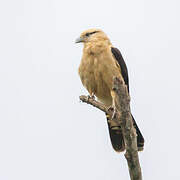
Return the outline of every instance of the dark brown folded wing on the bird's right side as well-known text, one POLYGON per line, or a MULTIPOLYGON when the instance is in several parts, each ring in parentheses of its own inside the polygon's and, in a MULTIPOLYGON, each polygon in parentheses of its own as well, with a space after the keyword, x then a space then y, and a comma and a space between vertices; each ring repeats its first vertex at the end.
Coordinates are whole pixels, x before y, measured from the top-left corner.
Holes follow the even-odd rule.
POLYGON ((129 92, 129 78, 128 78, 128 70, 127 70, 126 63, 119 49, 111 47, 111 52, 113 53, 113 56, 115 57, 116 61, 121 67, 121 74, 122 74, 125 84, 127 85, 128 92, 129 92))

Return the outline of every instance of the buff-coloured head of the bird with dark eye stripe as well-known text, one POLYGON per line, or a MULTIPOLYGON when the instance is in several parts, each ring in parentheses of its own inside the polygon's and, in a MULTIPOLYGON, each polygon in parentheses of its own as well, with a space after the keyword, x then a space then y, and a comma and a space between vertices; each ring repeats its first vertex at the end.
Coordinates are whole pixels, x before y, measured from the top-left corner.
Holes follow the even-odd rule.
POLYGON ((98 41, 109 41, 107 35, 100 29, 88 29, 81 33, 80 37, 76 39, 75 43, 96 43, 98 41))

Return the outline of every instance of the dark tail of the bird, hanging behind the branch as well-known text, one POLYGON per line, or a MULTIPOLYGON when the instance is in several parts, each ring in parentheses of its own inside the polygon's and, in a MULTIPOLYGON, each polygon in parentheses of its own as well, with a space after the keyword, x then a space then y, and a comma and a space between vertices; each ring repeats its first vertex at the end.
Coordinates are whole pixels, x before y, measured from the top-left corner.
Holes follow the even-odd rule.
MULTIPOLYGON (((132 115, 131 115, 132 116, 132 115)), ((122 130, 120 126, 112 126, 109 123, 109 117, 107 116, 107 122, 108 122, 108 128, 109 128, 109 135, 110 135, 110 139, 111 139, 111 144, 114 148, 115 151, 117 152, 122 152, 125 150, 125 144, 124 144, 124 138, 123 138, 123 134, 122 134, 122 130)), ((132 116, 132 120, 133 120, 133 125, 136 129, 136 134, 137 134, 137 147, 138 147, 138 151, 142 151, 143 147, 144 147, 144 138, 136 124, 136 121, 134 119, 134 117, 132 116)))

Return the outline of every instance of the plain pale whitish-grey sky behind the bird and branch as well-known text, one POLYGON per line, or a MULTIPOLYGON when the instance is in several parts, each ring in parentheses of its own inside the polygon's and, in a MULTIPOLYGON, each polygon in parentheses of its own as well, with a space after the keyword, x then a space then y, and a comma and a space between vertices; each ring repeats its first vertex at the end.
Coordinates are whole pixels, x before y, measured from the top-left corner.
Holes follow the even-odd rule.
POLYGON ((146 180, 180 179, 178 0, 0 1, 0 180, 128 180, 105 116, 79 102, 80 33, 126 60, 146 180))

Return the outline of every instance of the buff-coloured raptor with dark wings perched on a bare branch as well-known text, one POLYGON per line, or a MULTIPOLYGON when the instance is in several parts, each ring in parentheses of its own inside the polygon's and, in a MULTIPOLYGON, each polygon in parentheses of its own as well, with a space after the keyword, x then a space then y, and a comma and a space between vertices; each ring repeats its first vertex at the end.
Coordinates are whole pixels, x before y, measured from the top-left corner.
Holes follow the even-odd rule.
MULTIPOLYGON (((78 73, 83 86, 89 96, 97 98, 106 107, 113 106, 113 78, 123 79, 129 93, 129 77, 126 63, 121 52, 115 48, 108 36, 97 28, 85 30, 75 43, 83 43, 83 53, 78 68, 78 73)), ((107 124, 110 140, 116 152, 125 150, 125 142, 121 127, 107 114, 107 124)), ((132 114, 131 114, 132 116, 132 114)), ((132 121, 137 134, 138 151, 144 148, 144 137, 132 116, 132 121)))

